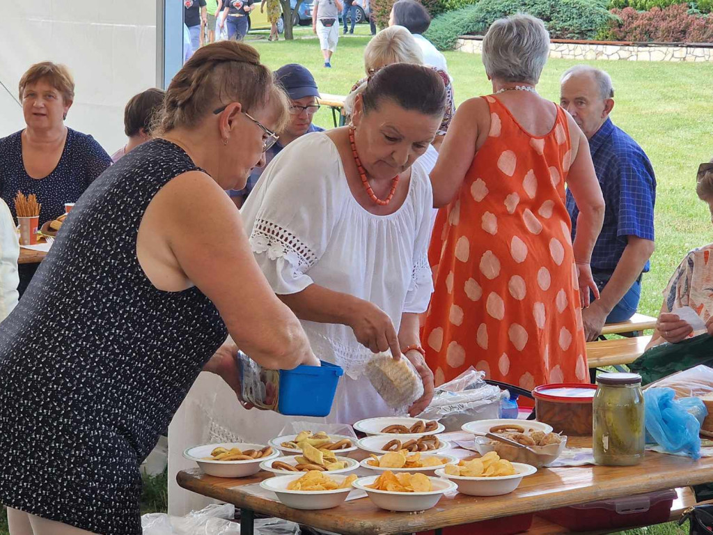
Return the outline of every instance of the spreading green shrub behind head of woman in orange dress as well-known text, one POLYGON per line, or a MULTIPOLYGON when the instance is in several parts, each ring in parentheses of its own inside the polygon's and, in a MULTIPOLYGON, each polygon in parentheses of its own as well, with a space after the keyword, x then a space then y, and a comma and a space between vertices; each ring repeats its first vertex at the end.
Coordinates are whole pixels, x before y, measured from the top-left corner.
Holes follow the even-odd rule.
POLYGON ((614 18, 602 1, 480 0, 436 17, 426 37, 441 50, 453 49, 459 35, 485 34, 493 21, 516 13, 542 19, 553 39, 595 39, 614 18))

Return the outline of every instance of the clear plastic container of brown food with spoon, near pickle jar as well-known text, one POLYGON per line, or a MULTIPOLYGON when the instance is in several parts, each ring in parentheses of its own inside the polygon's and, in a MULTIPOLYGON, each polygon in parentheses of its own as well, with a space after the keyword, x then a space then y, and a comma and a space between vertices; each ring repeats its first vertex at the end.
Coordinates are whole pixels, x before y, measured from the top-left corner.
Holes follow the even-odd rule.
POLYGON ((481 455, 496 452, 501 459, 531 464, 535 468, 542 468, 560 457, 567 445, 567 437, 558 433, 507 431, 497 434, 529 449, 518 448, 486 437, 476 437, 476 449, 481 455))

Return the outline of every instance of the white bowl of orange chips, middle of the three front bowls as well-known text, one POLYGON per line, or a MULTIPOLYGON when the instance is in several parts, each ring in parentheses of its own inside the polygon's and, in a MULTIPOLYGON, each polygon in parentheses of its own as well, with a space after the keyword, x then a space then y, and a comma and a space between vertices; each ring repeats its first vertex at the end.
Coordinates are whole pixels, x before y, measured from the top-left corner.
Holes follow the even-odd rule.
POLYGON ((360 477, 356 489, 366 491, 374 505, 387 511, 425 511, 438 503, 443 494, 454 491, 452 481, 425 474, 386 471, 379 476, 360 477))

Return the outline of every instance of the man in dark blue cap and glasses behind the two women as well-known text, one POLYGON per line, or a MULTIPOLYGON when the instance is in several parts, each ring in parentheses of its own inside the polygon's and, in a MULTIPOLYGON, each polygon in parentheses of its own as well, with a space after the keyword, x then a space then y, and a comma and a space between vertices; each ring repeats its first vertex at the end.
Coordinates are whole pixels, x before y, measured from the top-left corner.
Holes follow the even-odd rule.
MULTIPOLYGON (((324 128, 314 126, 312 118, 319 110, 317 98, 317 82, 314 81, 314 76, 307 68, 297 63, 289 63, 275 71, 277 82, 282 85, 284 91, 290 99, 289 107, 289 124, 284 128, 284 131, 279 132, 279 140, 275 145, 267 149, 265 153, 265 167, 275 158, 279 151, 282 151, 289 143, 295 139, 304 136, 310 132, 323 132, 324 128)), ((247 195, 250 195, 252 188, 255 188, 257 179, 262 175, 262 170, 265 167, 256 167, 247 178, 245 188, 242 190, 230 190, 228 195, 232 198, 238 208, 245 203, 247 195)))

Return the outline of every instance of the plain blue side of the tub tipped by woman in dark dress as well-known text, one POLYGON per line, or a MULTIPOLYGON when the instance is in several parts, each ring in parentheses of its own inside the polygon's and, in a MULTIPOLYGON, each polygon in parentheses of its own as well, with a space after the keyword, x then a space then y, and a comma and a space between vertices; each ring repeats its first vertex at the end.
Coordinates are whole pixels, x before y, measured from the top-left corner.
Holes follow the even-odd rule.
POLYGON ((322 366, 298 366, 279 370, 277 412, 285 416, 327 416, 332 411, 334 393, 342 367, 320 360, 322 366))

